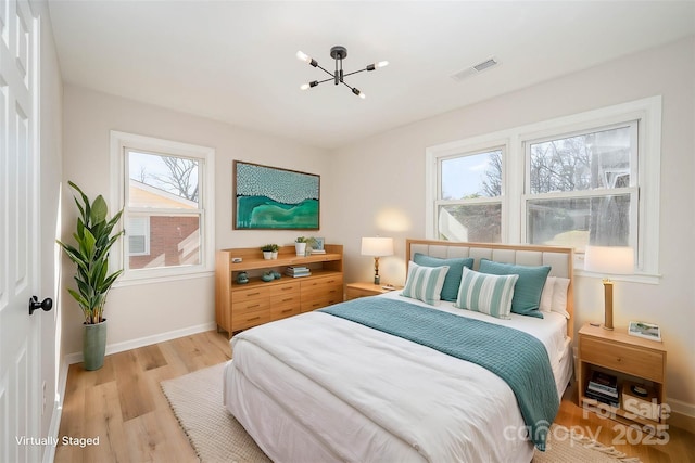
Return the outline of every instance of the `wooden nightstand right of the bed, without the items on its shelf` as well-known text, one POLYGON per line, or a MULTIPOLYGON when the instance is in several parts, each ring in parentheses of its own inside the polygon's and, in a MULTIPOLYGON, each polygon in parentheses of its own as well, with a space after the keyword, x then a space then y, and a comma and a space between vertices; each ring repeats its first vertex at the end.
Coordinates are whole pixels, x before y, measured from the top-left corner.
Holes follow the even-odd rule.
POLYGON ((662 406, 666 403, 666 349, 661 343, 630 336, 624 326, 608 331, 587 323, 579 331, 577 378, 580 406, 623 424, 648 426, 657 434, 668 428, 665 407, 660 408, 658 420, 649 420, 624 410, 622 394, 618 408, 586 397, 586 386, 594 370, 618 376, 618 390, 622 389, 624 381, 654 387, 658 404, 662 406))

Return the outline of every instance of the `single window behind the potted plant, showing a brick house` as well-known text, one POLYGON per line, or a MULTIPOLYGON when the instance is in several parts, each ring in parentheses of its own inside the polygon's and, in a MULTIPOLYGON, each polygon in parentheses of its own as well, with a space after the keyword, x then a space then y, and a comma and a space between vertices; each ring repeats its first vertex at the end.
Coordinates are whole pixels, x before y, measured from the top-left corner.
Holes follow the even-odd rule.
POLYGON ((112 132, 122 280, 213 270, 214 151, 112 132))

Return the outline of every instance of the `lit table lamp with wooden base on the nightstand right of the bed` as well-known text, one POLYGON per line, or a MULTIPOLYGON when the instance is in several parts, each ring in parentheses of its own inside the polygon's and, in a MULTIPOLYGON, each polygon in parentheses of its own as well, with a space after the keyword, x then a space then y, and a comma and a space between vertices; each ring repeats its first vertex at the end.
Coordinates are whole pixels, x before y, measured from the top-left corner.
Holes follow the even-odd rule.
MULTIPOLYGON (((586 246, 584 270, 604 274, 634 271, 634 252, 628 246, 586 246)), ((604 278, 605 319, 603 327, 612 330, 612 281, 604 278)))

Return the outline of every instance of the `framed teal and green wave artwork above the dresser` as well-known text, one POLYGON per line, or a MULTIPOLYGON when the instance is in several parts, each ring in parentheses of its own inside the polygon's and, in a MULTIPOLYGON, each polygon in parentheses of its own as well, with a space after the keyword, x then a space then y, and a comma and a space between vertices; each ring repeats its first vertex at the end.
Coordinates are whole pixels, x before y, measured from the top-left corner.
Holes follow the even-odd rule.
POLYGON ((320 176, 233 162, 235 230, 318 230, 320 176))

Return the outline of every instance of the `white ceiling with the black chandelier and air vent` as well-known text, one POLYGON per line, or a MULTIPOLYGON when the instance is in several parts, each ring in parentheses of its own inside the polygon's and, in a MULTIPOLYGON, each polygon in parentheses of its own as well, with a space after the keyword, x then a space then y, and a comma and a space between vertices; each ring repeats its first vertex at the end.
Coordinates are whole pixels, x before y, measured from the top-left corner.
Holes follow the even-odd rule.
POLYGON ((49 0, 63 79, 331 150, 695 34, 695 1, 49 0), (389 66, 344 86, 329 76, 389 66), (491 56, 498 65, 455 81, 491 56))

